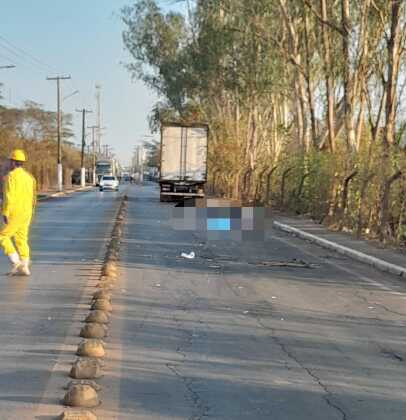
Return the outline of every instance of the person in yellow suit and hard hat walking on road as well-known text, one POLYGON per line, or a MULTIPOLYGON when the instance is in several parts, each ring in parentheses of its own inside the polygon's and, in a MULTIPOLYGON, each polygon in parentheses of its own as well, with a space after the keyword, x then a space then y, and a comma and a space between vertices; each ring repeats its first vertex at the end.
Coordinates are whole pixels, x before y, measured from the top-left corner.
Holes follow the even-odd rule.
POLYGON ((11 170, 4 181, 4 226, 0 230, 0 247, 13 264, 10 274, 29 276, 28 235, 37 194, 34 177, 23 168, 26 160, 24 151, 20 149, 14 150, 10 156, 11 170))

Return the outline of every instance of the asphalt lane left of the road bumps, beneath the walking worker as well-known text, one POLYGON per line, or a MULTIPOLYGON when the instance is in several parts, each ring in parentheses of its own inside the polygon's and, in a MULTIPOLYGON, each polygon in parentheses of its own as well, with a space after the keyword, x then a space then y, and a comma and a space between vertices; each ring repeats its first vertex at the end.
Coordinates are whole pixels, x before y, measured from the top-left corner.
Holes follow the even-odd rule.
POLYGON ((64 391, 50 380, 67 383, 62 363, 74 360, 78 342, 71 328, 84 310, 87 281, 100 269, 116 197, 92 191, 41 203, 30 278, 5 275, 8 261, 0 257, 0 419, 41 418, 41 407, 59 405, 64 391))

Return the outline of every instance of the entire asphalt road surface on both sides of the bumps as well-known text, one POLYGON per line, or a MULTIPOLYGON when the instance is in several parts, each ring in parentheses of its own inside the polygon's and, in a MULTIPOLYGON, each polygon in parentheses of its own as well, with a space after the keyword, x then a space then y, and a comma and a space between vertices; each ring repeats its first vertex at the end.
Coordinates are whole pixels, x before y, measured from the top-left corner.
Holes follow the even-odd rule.
MULTIPOLYGON (((155 186, 127 194, 99 419, 406 418, 405 283, 270 228, 209 240, 155 186)), ((113 200, 44 204, 32 278, 3 278, 0 419, 62 411, 113 200)))

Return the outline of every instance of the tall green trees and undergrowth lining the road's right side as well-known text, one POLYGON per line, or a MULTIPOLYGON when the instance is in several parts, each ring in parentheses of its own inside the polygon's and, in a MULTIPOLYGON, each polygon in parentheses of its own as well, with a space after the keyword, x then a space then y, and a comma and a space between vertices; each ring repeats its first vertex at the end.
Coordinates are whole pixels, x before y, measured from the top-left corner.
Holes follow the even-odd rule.
MULTIPOLYGON (((154 131, 162 120, 209 124, 209 182, 217 194, 401 241, 400 111, 393 144, 384 140, 391 129, 386 98, 395 3, 350 0, 344 22, 344 3, 327 1, 326 24, 321 2, 196 0, 186 18, 165 13, 155 0, 138 0, 122 10, 128 69, 160 96, 150 117, 154 131), (334 145, 326 140, 329 81, 334 145)), ((403 69, 405 3, 399 7, 403 69)), ((393 89, 396 110, 404 105, 403 79, 393 89)))

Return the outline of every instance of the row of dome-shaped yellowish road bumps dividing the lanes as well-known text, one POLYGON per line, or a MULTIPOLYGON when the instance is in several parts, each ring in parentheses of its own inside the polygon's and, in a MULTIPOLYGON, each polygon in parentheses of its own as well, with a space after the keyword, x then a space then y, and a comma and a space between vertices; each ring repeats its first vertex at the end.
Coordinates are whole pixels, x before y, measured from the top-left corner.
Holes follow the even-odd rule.
POLYGON ((106 356, 103 339, 107 336, 110 315, 113 310, 112 293, 118 278, 118 260, 122 225, 127 214, 127 196, 121 200, 117 212, 111 239, 107 245, 106 256, 97 290, 92 296, 90 311, 80 331, 83 337, 69 372, 71 378, 67 384, 67 392, 63 404, 70 409, 65 410, 62 420, 96 420, 97 417, 88 409, 98 407, 101 402, 98 396, 100 386, 97 379, 102 374, 106 356))

